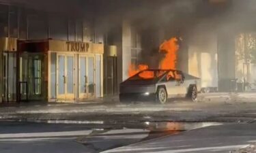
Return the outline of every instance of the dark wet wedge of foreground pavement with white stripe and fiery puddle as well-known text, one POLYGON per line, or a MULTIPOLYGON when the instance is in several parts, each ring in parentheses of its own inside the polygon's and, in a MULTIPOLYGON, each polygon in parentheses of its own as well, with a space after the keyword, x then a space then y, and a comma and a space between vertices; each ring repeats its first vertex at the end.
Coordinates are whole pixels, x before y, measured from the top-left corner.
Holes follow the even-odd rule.
MULTIPOLYGON (((133 143, 156 139, 167 135, 174 135, 191 129, 204 126, 217 125, 216 122, 81 122, 73 124, 59 123, 32 123, 32 122, 0 122, 0 141, 2 146, 11 146, 19 143, 19 146, 12 149, 16 152, 18 148, 31 148, 37 150, 38 144, 41 148, 51 146, 51 150, 56 150, 53 144, 62 143, 63 152, 65 147, 77 148, 80 150, 94 150, 101 152, 133 143)), ((58 150, 60 148, 57 148, 58 150)), ((0 146, 1 152, 1 146, 0 146)))

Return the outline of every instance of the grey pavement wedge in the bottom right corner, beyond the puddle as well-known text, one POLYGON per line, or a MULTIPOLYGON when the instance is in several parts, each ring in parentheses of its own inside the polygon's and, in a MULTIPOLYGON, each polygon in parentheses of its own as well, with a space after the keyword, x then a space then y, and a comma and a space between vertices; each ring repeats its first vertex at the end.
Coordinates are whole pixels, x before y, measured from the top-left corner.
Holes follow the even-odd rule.
POLYGON ((160 137, 141 143, 107 150, 104 153, 181 153, 230 152, 256 141, 256 123, 224 124, 160 137))

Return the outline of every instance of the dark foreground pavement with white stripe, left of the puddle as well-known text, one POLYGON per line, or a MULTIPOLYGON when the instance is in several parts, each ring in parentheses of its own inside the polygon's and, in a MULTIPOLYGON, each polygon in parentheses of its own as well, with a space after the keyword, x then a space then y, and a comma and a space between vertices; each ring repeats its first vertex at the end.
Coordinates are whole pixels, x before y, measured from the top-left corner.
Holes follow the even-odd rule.
POLYGON ((81 153, 93 152, 74 139, 91 131, 82 125, 0 122, 0 152, 81 153))

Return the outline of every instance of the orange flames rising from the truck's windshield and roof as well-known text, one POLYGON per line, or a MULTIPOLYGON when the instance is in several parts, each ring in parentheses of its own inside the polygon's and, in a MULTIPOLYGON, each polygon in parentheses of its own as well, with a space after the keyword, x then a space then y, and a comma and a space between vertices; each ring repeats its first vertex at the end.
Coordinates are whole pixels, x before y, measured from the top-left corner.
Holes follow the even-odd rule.
MULTIPOLYGON (((177 50, 179 50, 179 45, 177 44, 177 38, 172 37, 171 39, 164 41, 160 47, 159 52, 164 53, 165 57, 159 63, 159 69, 175 69, 176 67, 176 59, 177 59, 177 50)), ((128 75, 132 76, 138 73, 139 71, 143 71, 145 69, 149 69, 148 65, 130 65, 128 69, 128 75)), ((141 78, 153 78, 154 73, 152 71, 145 71, 145 73, 139 74, 141 78)))

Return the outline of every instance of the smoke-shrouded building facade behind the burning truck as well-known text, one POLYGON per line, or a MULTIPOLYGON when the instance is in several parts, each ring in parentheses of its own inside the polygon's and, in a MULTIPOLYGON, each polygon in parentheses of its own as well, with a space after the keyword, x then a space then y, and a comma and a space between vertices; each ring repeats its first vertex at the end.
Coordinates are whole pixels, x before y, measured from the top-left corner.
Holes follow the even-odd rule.
POLYGON ((39 1, 0 4, 1 101, 83 101, 117 95, 130 65, 158 68, 164 56, 159 46, 171 37, 180 46, 176 68, 201 78, 202 87, 229 92, 231 80, 254 81, 255 60, 237 58, 252 50, 241 47, 247 39, 236 43, 246 27, 233 26, 236 20, 216 24, 222 18, 212 18, 232 3, 201 1, 187 14, 186 5, 168 0, 76 2, 66 0, 66 7, 59 9, 51 1, 47 3, 52 9, 44 9, 47 4, 39 1))

